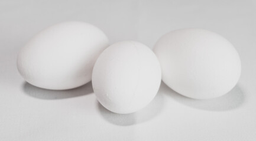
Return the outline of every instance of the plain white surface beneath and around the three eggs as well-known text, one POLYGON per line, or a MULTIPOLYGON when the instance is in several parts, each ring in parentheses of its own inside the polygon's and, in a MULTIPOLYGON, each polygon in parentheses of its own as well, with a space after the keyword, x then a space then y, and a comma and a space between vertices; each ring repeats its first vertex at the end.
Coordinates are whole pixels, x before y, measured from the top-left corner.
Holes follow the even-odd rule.
POLYGON ((248 1, 0 1, 1 140, 255 140, 256 2, 248 1), (41 29, 78 20, 98 26, 110 42, 154 43, 179 28, 203 28, 230 41, 242 74, 230 93, 212 100, 178 95, 162 83, 144 110, 116 115, 102 108, 91 84, 38 89, 18 74, 18 50, 41 29))

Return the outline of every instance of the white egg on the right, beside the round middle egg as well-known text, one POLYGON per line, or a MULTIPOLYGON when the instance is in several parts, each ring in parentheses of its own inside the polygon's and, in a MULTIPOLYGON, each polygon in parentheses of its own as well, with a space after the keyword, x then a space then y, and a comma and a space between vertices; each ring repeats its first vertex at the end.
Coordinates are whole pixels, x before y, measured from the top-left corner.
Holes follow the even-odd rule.
POLYGON ((162 79, 171 89, 194 99, 222 96, 234 88, 241 61, 225 38, 204 29, 179 29, 161 37, 154 47, 162 79))

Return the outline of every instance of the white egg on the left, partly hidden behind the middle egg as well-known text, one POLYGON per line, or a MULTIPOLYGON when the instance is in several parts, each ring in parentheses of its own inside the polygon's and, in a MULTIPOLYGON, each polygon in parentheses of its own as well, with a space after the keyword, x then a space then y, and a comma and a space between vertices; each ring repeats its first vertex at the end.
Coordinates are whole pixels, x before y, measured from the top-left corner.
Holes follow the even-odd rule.
POLYGON ((63 22, 34 36, 18 53, 17 68, 31 85, 72 89, 92 79, 93 65, 108 46, 101 29, 85 22, 63 22))

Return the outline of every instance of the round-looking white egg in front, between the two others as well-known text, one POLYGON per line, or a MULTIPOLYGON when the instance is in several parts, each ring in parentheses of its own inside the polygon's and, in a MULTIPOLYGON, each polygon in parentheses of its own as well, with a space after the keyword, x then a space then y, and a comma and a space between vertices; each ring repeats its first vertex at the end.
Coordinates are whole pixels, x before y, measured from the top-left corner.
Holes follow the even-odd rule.
POLYGON ((114 43, 101 53, 92 73, 98 101, 115 113, 132 113, 153 100, 161 83, 154 52, 142 43, 114 43))

